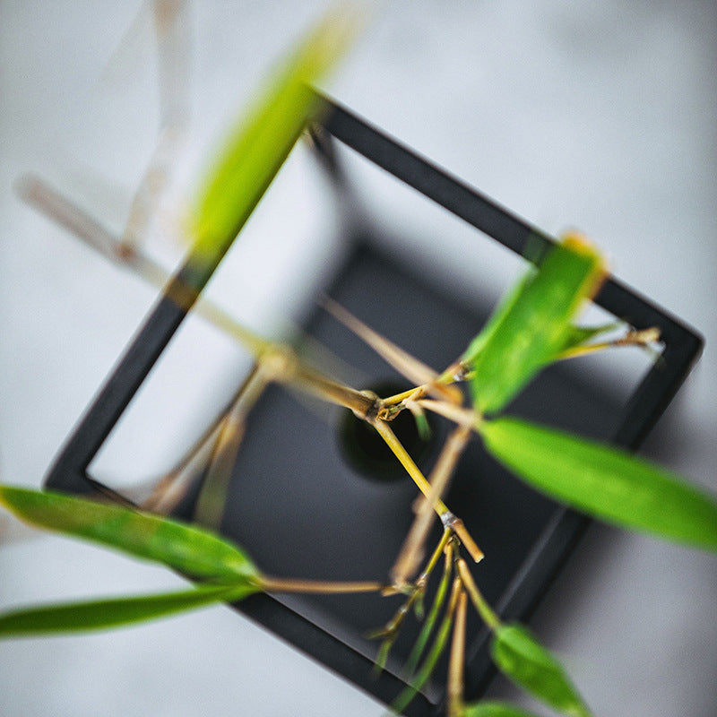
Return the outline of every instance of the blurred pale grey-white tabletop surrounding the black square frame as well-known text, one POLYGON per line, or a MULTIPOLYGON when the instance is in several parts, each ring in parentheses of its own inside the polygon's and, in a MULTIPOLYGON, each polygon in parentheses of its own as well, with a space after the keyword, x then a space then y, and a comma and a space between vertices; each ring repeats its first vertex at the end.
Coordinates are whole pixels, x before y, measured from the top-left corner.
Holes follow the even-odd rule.
MULTIPOLYGON (((297 5, 193 8, 199 129, 187 166, 324 6, 297 5)), ((40 485, 151 305, 150 289, 12 191, 15 177, 39 171, 121 226, 157 122, 148 17, 139 3, 0 1, 7 483, 40 485)), ((716 29, 715 6, 696 0, 385 3, 326 84, 541 228, 582 229, 618 276, 704 333, 704 356, 644 453, 713 490, 716 29)), ((160 569, 57 537, 0 544, 0 608, 177 584, 160 569)), ((600 526, 532 625, 564 656, 597 715, 711 717, 715 606, 714 557, 600 526)), ((8 717, 200 711, 358 716, 382 708, 221 607, 103 635, 0 643, 8 717)))

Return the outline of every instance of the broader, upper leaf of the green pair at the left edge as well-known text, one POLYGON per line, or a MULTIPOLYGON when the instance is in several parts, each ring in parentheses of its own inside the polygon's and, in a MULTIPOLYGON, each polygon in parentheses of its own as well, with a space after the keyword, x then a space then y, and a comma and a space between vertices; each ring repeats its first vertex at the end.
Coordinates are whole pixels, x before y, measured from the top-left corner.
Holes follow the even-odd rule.
POLYGON ((0 485, 0 505, 26 523, 108 545, 194 578, 261 580, 246 553, 209 531, 120 505, 0 485))

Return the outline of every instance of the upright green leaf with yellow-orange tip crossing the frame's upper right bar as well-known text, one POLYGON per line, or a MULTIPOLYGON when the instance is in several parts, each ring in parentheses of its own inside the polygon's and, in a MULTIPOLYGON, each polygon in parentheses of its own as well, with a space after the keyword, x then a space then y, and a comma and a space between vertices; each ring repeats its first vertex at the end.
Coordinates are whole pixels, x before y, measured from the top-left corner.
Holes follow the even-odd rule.
POLYGON ((529 272, 462 357, 473 371, 473 402, 481 412, 502 409, 557 356, 574 331, 575 313, 603 277, 600 255, 575 236, 529 272))

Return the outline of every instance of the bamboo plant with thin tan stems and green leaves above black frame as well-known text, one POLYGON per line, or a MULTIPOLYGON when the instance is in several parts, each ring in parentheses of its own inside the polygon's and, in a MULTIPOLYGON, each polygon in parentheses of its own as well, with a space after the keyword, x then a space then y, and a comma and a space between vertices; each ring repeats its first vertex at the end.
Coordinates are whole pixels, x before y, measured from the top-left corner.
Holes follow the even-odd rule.
MULTIPOLYGON (((207 266, 226 252, 299 135, 320 116, 321 105, 307 83, 320 79, 347 45, 351 33, 344 21, 333 16, 317 25, 220 151, 188 229, 193 243, 189 266, 195 272, 206 272, 207 266)), ((105 255, 151 281, 167 281, 160 267, 143 255, 141 245, 133 242, 128 246, 91 220, 76 221, 72 205, 39 180, 27 181, 23 191, 31 202, 79 231, 105 255)), ((398 368, 413 386, 389 396, 335 381, 299 358, 289 345, 246 330, 200 299, 196 310, 241 342, 255 360, 255 368, 236 400, 211 431, 215 450, 210 473, 219 476, 212 484, 219 488, 208 498, 210 513, 220 505, 221 477, 226 478, 227 464, 239 450, 241 427, 250 418, 255 401, 266 385, 289 384, 339 404, 366 421, 422 494, 415 521, 391 573, 375 582, 355 583, 333 582, 331 575, 314 582, 264 574, 240 546, 212 531, 157 513, 162 507, 171 507, 171 500, 162 505, 162 499, 171 494, 178 471, 168 477, 150 503, 140 507, 2 486, 0 503, 27 523, 160 563, 185 575, 191 584, 180 592, 13 610, 0 615, 0 637, 123 626, 211 603, 236 602, 255 592, 374 592, 376 600, 402 596, 393 618, 376 630, 381 641, 376 666, 381 669, 404 620, 433 580, 437 583, 433 602, 405 666, 410 687, 397 695, 392 705, 395 713, 402 713, 410 704, 447 651, 448 717, 530 717, 511 704, 464 702, 466 616, 474 609, 491 632, 490 652, 497 669, 537 701, 560 713, 591 715, 557 658, 525 626, 504 622, 483 598, 479 568, 469 566, 479 562, 482 551, 460 516, 445 505, 443 494, 465 445, 471 436, 479 436, 497 462, 565 505, 628 530, 646 531, 695 549, 717 552, 717 501, 713 496, 615 447, 505 412, 514 396, 555 361, 611 345, 644 347, 658 338, 654 331, 637 332, 627 327, 618 340, 607 340, 604 337, 614 333, 614 325, 585 328, 576 323, 606 273, 600 252, 590 242, 576 234, 566 236, 526 273, 462 355, 441 372, 424 366, 327 300, 326 308, 398 368), (428 476, 393 432, 392 421, 404 410, 413 414, 421 429, 426 427, 427 412, 454 424, 428 476), (442 536, 427 550, 429 529, 436 516, 443 525, 442 536), (422 562, 427 552, 428 560, 422 562)), ((196 298, 177 277, 165 290, 186 305, 196 298)))

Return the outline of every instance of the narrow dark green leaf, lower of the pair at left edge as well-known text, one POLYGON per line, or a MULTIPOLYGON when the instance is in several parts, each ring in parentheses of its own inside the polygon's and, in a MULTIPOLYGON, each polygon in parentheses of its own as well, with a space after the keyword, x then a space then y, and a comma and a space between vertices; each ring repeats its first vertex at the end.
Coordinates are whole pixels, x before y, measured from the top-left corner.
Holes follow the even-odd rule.
POLYGON ((118 627, 200 608, 220 600, 235 602, 258 590, 258 586, 248 582, 230 586, 200 585, 194 590, 182 592, 21 609, 0 615, 0 638, 118 627))

